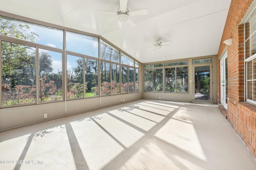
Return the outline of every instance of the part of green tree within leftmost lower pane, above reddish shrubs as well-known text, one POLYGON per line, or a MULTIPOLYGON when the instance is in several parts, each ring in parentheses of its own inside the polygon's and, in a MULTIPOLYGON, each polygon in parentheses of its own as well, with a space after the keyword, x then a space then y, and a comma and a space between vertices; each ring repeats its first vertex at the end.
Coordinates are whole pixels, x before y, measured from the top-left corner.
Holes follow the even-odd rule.
POLYGON ((34 48, 2 41, 2 84, 35 84, 35 58, 34 48))

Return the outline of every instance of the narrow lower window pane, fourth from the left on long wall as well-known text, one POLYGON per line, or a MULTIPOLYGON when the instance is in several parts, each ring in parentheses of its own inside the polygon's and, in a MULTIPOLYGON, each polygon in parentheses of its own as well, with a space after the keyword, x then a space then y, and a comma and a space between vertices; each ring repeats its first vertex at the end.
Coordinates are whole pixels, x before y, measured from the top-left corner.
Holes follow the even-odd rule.
POLYGON ((98 96, 98 60, 85 59, 85 97, 98 96))

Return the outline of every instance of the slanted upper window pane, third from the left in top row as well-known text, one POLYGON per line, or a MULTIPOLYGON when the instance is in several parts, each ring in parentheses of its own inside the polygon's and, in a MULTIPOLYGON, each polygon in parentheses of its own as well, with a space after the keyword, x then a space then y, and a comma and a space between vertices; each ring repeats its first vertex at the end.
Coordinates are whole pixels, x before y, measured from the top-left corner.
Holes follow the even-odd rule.
POLYGON ((102 39, 100 40, 100 58, 120 63, 120 52, 102 39))

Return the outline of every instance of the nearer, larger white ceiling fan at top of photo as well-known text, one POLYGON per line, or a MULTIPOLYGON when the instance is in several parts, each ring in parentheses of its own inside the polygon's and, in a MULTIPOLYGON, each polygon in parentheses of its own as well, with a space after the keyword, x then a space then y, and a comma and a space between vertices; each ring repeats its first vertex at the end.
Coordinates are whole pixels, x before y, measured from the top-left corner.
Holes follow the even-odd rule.
POLYGON ((109 14, 109 15, 117 15, 116 20, 114 20, 110 25, 115 25, 118 21, 120 21, 122 24, 125 22, 128 23, 131 27, 135 27, 137 24, 130 19, 130 16, 139 16, 139 15, 147 15, 148 10, 137 10, 137 11, 129 11, 127 8, 127 2, 128 0, 120 0, 120 7, 116 10, 116 12, 107 12, 107 11, 100 11, 99 13, 102 14, 109 14))

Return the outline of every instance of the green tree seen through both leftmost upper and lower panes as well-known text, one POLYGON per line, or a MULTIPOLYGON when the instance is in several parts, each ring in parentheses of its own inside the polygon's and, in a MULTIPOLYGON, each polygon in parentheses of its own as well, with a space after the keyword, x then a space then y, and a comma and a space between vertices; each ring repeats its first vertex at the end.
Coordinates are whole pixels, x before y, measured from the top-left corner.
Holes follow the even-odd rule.
MULTIPOLYGON (((39 36, 27 30, 27 24, 17 24, 0 18, 0 34, 34 42, 39 36)), ((35 49, 26 45, 2 41, 2 84, 32 85, 35 77, 35 49)))

